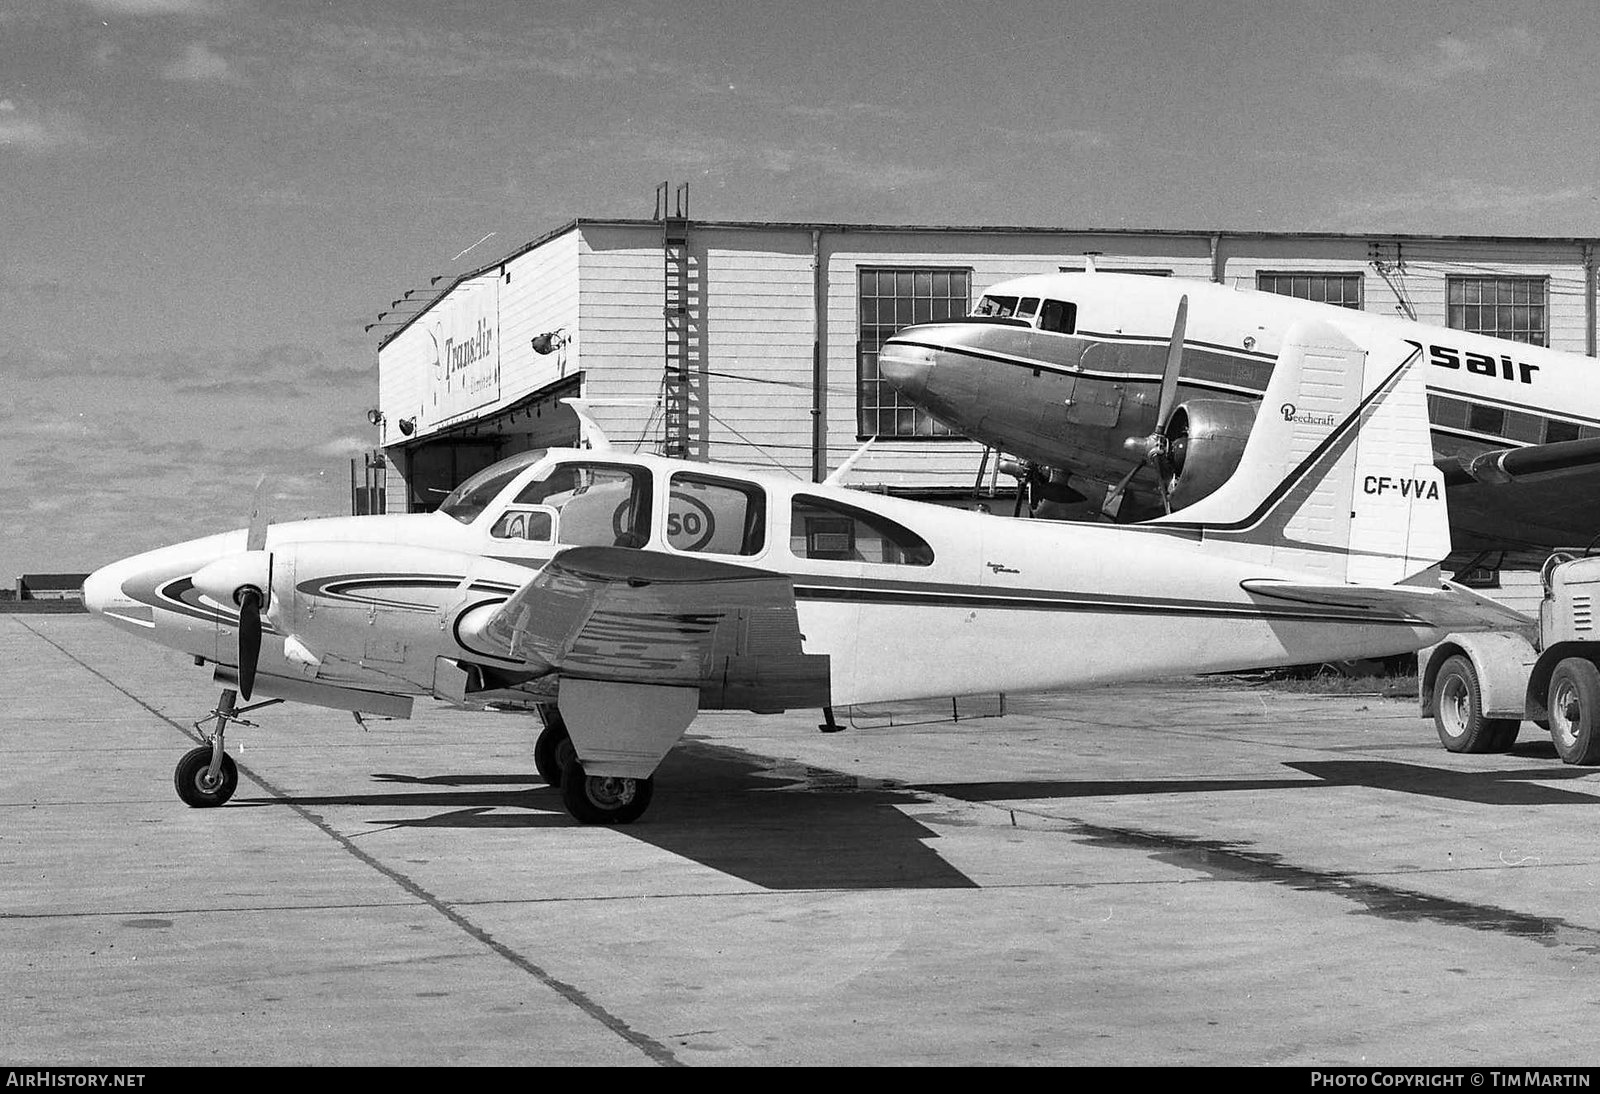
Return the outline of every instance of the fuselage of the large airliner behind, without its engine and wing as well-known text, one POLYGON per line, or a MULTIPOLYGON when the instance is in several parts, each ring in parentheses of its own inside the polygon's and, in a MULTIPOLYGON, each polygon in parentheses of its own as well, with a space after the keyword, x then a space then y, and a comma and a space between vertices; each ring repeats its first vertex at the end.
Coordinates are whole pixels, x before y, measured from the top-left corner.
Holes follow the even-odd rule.
MULTIPOLYGON (((1070 472, 1074 483, 1110 485, 1138 462, 1128 441, 1157 429, 1162 368, 1182 296, 1189 310, 1179 400, 1258 405, 1285 333, 1314 317, 1371 353, 1422 355, 1440 457, 1600 435, 1595 361, 1578 353, 1181 278, 1056 274, 989 291, 1070 305, 1069 318, 1053 323, 1067 329, 1048 329, 1038 310, 1027 321, 912 326, 885 344, 878 368, 960 433, 1070 472)), ((1134 512, 1160 510, 1152 472, 1134 477, 1130 497, 1134 512)), ((1459 521, 1458 531, 1458 539, 1472 539, 1474 529, 1459 521)))

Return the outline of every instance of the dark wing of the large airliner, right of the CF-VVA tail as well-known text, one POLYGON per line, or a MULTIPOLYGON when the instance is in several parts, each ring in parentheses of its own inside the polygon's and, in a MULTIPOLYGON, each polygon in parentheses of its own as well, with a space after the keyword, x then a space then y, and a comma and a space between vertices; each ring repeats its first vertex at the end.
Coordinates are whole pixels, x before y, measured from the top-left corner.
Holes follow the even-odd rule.
POLYGON ((1435 461, 1456 550, 1582 547, 1600 536, 1600 438, 1435 461))

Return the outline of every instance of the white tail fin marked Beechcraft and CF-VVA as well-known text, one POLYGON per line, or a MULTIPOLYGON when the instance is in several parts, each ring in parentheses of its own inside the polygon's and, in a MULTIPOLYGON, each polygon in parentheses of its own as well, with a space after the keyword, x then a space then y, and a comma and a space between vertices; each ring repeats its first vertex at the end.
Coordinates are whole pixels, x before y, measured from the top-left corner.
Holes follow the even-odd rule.
POLYGON ((1450 553, 1421 350, 1370 353, 1326 321, 1288 337, 1232 478, 1152 525, 1330 581, 1429 581, 1450 553))

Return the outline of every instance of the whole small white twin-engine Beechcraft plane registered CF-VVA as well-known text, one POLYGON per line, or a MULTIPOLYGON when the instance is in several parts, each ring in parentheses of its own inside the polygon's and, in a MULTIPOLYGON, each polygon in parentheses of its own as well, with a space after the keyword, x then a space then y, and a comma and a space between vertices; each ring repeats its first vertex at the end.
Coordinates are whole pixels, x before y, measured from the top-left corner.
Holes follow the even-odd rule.
POLYGON ((214 665, 216 729, 174 776, 192 806, 237 787, 222 736, 254 707, 235 689, 402 718, 432 696, 538 710, 541 776, 578 820, 621 824, 699 710, 818 707, 837 728, 851 704, 1395 654, 1522 622, 1438 576, 1421 361, 1301 323, 1266 393, 1294 413, 1262 416, 1203 502, 1144 525, 624 454, 592 430, 434 513, 258 515, 83 592, 214 665))

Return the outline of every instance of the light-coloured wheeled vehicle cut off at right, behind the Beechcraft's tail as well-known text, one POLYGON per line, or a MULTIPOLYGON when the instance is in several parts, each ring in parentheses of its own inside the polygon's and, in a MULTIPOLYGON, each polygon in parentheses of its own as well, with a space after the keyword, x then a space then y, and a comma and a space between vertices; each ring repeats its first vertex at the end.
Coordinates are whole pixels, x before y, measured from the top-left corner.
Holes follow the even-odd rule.
POLYGON ((1550 555, 1538 621, 1450 635, 1418 653, 1422 717, 1450 752, 1509 752, 1523 721, 1562 760, 1600 765, 1600 557, 1550 555))

